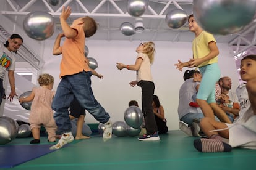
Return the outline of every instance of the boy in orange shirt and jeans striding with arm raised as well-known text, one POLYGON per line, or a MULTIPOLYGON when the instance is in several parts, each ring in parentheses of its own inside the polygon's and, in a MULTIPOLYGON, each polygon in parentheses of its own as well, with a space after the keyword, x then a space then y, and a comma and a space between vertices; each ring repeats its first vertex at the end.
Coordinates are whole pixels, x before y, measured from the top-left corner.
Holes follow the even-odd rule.
POLYGON ((61 132, 58 144, 50 149, 59 149, 63 145, 74 140, 72 126, 69 119, 69 106, 74 97, 79 101, 81 107, 85 108, 100 123, 105 124, 103 140, 111 138, 112 127, 109 114, 95 99, 92 87, 92 70, 89 68, 88 60, 85 58, 85 37, 93 36, 97 30, 97 24, 93 18, 81 17, 74 20, 71 26, 66 22, 71 14, 68 6, 62 7, 59 16, 63 33, 59 34, 53 47, 53 55, 62 54, 61 81, 53 100, 54 119, 61 132), (61 44, 61 38, 65 41, 61 44))

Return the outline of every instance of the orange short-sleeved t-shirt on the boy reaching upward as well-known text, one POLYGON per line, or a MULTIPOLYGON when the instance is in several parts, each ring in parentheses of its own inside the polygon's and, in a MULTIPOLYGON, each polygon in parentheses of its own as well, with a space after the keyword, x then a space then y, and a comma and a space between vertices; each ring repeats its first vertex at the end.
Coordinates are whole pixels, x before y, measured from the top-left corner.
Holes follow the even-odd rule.
POLYGON ((62 47, 60 78, 66 75, 74 75, 82 71, 90 71, 85 60, 85 33, 82 25, 71 25, 77 30, 75 38, 66 38, 62 47))

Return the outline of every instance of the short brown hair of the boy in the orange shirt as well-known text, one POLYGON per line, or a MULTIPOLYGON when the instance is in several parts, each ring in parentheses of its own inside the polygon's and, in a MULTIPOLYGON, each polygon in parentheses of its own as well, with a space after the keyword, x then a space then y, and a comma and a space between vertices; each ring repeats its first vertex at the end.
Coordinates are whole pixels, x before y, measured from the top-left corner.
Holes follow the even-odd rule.
POLYGON ((85 37, 93 36, 97 31, 97 23, 91 17, 84 17, 83 20, 83 31, 85 32, 85 37))

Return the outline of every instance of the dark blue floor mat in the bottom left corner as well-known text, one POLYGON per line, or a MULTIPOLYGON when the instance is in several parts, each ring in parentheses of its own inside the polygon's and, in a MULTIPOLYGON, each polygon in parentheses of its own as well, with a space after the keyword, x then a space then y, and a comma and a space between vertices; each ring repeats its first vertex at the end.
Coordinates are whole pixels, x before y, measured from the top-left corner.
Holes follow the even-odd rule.
POLYGON ((0 145, 0 168, 11 168, 54 152, 51 145, 0 145))

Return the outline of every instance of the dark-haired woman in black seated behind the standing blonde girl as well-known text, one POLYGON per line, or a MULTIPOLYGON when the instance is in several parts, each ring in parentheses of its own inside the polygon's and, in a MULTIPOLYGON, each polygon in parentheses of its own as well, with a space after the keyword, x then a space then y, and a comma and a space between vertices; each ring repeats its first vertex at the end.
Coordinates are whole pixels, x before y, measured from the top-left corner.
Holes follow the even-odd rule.
POLYGON ((160 104, 158 96, 153 95, 153 112, 155 114, 156 124, 158 127, 159 134, 166 134, 168 132, 168 127, 166 126, 166 119, 164 118, 164 108, 160 104))

